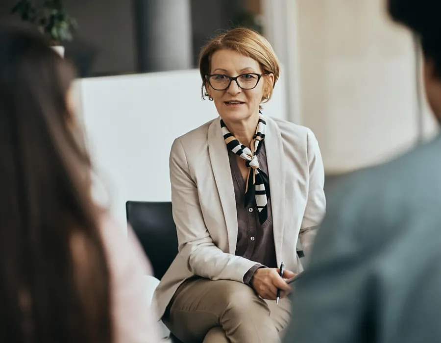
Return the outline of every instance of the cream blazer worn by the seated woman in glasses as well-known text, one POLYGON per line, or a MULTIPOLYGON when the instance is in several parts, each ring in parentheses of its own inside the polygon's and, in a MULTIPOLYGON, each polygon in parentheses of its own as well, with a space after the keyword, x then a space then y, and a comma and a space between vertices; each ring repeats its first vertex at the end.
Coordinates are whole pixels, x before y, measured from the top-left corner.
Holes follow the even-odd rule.
MULTIPOLYGON (((297 240, 308 254, 326 207, 318 142, 306 127, 266 117, 277 263, 302 271, 297 240)), ((235 256, 237 213, 220 118, 177 138, 170 153, 173 219, 179 253, 154 299, 162 317, 179 285, 193 275, 243 282, 255 262, 235 256)))

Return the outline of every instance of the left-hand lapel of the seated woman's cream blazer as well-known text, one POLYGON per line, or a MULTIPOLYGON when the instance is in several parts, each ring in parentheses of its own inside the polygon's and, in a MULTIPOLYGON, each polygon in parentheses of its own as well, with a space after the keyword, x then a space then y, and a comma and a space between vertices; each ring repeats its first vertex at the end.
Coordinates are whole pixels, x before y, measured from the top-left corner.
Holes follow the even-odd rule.
POLYGON ((229 253, 234 254, 237 244, 236 201, 228 150, 222 136, 220 117, 215 119, 208 128, 208 152, 225 217, 229 253))

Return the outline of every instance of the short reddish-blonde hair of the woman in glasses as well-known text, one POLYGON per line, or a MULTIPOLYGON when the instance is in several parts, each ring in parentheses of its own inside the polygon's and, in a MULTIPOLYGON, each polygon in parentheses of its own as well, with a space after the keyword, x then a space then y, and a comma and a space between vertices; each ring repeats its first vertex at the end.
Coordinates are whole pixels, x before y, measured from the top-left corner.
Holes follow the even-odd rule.
POLYGON ((251 57, 257 61, 262 69, 262 73, 272 73, 274 82, 267 84, 266 94, 262 97, 262 102, 270 100, 275 83, 280 75, 280 63, 270 42, 259 33, 245 27, 236 27, 211 39, 201 49, 199 53, 199 72, 202 78, 201 94, 205 98, 207 93, 207 75, 210 73, 210 60, 214 52, 221 49, 236 51, 244 56, 251 57))

